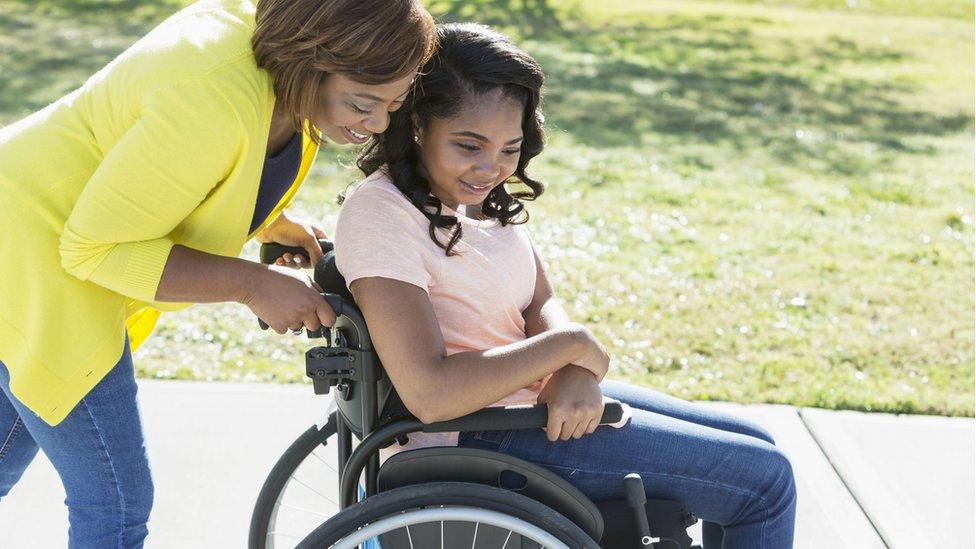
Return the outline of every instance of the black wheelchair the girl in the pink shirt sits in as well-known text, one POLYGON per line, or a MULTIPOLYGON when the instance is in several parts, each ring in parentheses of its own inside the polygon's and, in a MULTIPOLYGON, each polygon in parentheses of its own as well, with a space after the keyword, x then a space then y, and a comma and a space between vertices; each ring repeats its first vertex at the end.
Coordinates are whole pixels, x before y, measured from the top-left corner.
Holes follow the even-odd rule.
MULTIPOLYGON (((540 429, 546 425, 545 406, 486 408, 421 423, 384 375, 366 322, 336 269, 332 243, 319 243, 325 255, 315 265, 314 279, 336 322, 306 331, 320 344, 305 353, 305 369, 315 393, 332 393, 333 399, 324 417, 292 443, 268 475, 251 517, 251 549, 692 547, 687 529, 697 518, 680 502, 648 500, 636 474, 620 479, 626 499, 593 502, 551 471, 499 452, 421 448, 396 453, 381 466, 380 450, 406 443, 412 433, 540 429), (317 453, 329 446, 334 456, 317 453), (300 468, 318 462, 324 466, 315 480, 298 477, 300 468), (325 493, 329 475, 338 480, 338 501, 325 493), (332 502, 338 512, 330 516, 286 502, 290 487, 332 502), (303 521, 286 525, 285 511, 303 521)), ((284 253, 306 254, 265 244, 261 261, 272 263, 284 253)), ((622 414, 620 403, 609 402, 601 423, 617 422, 622 414)))

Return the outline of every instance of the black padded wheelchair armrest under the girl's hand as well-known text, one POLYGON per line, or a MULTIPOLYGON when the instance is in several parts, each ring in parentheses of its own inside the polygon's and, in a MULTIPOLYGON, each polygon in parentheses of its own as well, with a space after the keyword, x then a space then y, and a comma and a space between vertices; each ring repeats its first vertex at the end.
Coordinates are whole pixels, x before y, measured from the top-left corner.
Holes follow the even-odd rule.
MULTIPOLYGON (((603 407, 600 424, 617 423, 623 419, 623 405, 616 401, 603 407)), ((453 431, 507 431, 512 429, 543 429, 548 423, 549 411, 545 404, 535 406, 507 406, 484 408, 472 414, 448 421, 424 425, 425 433, 453 431)))

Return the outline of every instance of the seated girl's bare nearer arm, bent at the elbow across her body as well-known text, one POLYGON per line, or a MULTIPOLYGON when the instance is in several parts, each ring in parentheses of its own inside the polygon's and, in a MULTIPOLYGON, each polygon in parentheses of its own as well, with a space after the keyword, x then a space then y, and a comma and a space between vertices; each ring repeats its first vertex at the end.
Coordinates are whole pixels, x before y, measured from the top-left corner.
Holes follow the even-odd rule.
MULTIPOLYGON (((574 362, 602 377, 577 324, 486 351, 447 356, 427 293, 407 282, 361 278, 350 285, 370 338, 404 405, 424 423, 480 410, 574 362)), ((471 319, 472 325, 478 322, 471 319)), ((601 371, 601 368, 603 371, 601 371)))

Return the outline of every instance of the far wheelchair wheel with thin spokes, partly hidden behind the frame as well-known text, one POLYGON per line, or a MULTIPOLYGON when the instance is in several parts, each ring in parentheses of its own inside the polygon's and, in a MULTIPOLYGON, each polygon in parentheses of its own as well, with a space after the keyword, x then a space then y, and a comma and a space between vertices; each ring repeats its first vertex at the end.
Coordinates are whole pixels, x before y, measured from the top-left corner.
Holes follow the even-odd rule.
POLYGON ((254 504, 250 549, 295 547, 339 511, 335 433, 333 412, 321 428, 309 427, 278 458, 254 504))

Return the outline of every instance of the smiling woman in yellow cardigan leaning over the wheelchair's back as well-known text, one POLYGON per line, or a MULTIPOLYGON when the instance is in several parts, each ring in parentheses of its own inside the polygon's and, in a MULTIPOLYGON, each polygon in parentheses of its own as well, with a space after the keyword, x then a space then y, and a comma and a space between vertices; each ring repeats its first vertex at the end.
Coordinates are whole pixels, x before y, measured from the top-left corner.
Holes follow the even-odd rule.
POLYGON ((283 208, 318 145, 386 128, 434 45, 419 0, 207 0, 0 130, 0 254, 25 258, 0 263, 0 497, 43 449, 72 547, 142 545, 130 349, 186 303, 331 324, 306 275, 237 255, 248 238, 321 254, 283 208))

